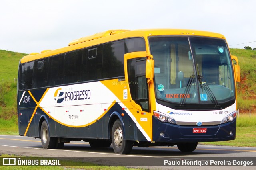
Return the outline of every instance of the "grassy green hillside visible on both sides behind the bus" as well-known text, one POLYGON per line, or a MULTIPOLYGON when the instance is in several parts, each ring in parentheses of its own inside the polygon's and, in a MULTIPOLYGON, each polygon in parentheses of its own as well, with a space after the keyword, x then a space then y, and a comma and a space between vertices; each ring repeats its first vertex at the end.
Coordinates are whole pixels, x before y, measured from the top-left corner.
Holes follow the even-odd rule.
MULTIPOLYGON (((238 109, 256 113, 256 51, 230 49, 241 68, 241 82, 237 83, 238 109)), ((0 119, 16 117, 16 84, 19 60, 27 54, 0 50, 0 119), (9 80, 10 79, 10 80, 9 80)))

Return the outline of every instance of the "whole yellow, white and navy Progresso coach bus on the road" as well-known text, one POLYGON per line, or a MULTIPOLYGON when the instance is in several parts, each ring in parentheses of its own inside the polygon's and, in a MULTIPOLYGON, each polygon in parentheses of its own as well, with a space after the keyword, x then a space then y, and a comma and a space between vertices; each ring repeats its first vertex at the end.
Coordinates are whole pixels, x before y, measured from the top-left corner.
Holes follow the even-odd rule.
POLYGON ((236 137, 240 70, 225 37, 180 29, 109 30, 31 53, 18 70, 19 134, 44 149, 70 141, 174 146, 236 137), (232 59, 236 64, 232 64, 232 59))

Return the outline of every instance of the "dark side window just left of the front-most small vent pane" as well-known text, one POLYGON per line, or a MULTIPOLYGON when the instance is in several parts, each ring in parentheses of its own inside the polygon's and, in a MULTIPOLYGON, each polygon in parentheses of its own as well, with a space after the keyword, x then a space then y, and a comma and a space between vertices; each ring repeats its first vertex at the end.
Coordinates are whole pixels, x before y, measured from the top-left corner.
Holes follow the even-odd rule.
POLYGON ((82 50, 66 53, 64 84, 80 82, 82 79, 82 50))

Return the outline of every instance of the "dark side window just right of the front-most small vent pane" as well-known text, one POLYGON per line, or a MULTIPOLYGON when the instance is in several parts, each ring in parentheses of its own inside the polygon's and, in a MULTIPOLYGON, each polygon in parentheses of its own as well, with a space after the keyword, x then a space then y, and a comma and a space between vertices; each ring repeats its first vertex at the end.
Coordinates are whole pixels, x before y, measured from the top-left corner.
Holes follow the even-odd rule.
POLYGON ((103 52, 102 78, 124 76, 124 40, 105 44, 103 52))

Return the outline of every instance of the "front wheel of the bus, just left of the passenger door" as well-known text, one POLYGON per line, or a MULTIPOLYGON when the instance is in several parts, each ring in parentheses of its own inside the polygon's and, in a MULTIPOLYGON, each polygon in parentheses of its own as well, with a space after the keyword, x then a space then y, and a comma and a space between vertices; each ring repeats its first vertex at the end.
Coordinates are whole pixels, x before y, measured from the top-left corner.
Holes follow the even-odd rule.
POLYGON ((129 154, 132 150, 133 141, 124 140, 123 132, 120 120, 116 120, 111 133, 112 145, 116 154, 129 154))

